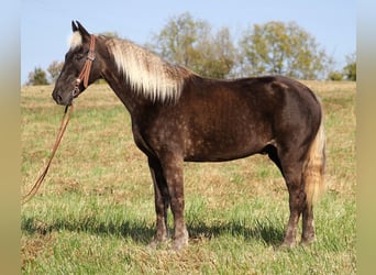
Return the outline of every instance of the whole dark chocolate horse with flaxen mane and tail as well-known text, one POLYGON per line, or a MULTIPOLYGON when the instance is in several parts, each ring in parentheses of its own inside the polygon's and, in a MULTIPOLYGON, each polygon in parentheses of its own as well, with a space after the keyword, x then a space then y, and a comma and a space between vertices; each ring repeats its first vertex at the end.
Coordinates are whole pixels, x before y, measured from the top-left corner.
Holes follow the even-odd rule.
POLYGON ((319 98, 283 76, 204 78, 173 65, 135 43, 90 34, 78 21, 53 90, 70 106, 89 85, 104 79, 130 113, 133 139, 145 154, 154 185, 155 248, 188 245, 184 162, 225 162, 265 154, 279 168, 289 194, 289 220, 281 245, 316 240, 313 202, 324 189, 325 136, 319 98))

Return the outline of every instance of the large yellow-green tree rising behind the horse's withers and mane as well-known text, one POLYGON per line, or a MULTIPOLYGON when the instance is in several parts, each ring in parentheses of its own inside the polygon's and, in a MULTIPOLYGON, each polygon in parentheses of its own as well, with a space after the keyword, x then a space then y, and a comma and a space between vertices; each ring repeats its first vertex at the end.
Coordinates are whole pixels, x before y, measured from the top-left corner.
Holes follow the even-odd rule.
POLYGON ((223 28, 213 34, 208 22, 189 13, 172 18, 147 46, 166 61, 207 77, 224 78, 234 65, 230 31, 223 28))

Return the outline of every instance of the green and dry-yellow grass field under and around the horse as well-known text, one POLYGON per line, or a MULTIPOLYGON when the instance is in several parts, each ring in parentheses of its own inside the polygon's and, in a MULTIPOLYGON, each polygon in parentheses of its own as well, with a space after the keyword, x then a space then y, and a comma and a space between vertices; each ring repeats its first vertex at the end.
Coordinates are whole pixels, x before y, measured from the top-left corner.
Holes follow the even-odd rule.
MULTIPOLYGON (((108 86, 92 86, 76 101, 44 185, 22 206, 22 273, 356 274, 355 84, 306 84, 322 99, 328 139, 329 190, 314 209, 313 245, 279 249, 286 186, 265 156, 253 156, 185 164, 189 246, 148 249, 155 213, 146 158, 124 107, 108 86)), ((42 172, 63 116, 51 91, 21 91, 22 194, 42 172)))

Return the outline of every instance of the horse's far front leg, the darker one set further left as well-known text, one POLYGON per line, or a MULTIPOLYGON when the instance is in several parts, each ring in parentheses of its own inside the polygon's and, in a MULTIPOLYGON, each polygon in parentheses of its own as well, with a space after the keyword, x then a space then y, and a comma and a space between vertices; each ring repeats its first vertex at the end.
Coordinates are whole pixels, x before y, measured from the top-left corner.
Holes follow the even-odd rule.
POLYGON ((151 246, 156 248, 159 243, 165 242, 168 239, 167 209, 169 206, 169 193, 159 161, 148 157, 148 167, 154 184, 156 212, 156 233, 151 246))

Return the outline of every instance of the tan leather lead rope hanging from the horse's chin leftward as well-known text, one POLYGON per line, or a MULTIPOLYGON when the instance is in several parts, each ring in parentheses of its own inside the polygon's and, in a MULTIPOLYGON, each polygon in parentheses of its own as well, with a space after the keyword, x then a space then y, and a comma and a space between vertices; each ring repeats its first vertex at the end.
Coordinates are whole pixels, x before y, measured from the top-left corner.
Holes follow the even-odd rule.
POLYGON ((68 125, 68 122, 70 120, 70 114, 71 114, 73 110, 74 110, 73 105, 70 106, 70 108, 69 108, 69 106, 65 107, 64 116, 63 116, 63 119, 62 119, 62 122, 60 122, 60 128, 58 130, 58 133, 57 133, 57 136, 56 136, 56 141, 55 141, 55 144, 53 146, 53 151, 52 151, 52 153, 49 155, 47 165, 44 168, 43 173, 40 175, 40 177, 36 179, 35 184, 33 185, 31 190, 26 195, 24 195, 22 197, 22 205, 26 204, 29 200, 31 200, 35 196, 35 194, 40 189, 40 187, 41 187, 45 176, 47 175, 47 172, 49 169, 51 163, 52 163, 52 161, 53 161, 53 158, 55 156, 55 153, 57 151, 58 145, 60 144, 60 141, 62 141, 63 135, 64 135, 64 132, 67 129, 67 125, 68 125), (69 109, 69 111, 68 111, 68 109, 69 109))

